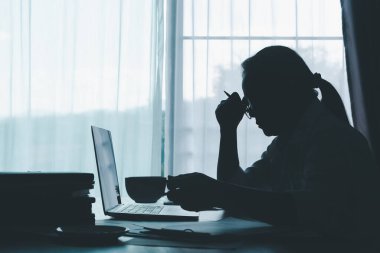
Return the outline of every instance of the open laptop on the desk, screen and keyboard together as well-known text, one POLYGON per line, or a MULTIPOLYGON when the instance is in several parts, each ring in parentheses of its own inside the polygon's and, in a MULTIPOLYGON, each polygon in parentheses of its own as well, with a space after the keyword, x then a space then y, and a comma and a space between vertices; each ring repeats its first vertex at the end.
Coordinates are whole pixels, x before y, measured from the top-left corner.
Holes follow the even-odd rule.
POLYGON ((91 132, 106 215, 130 220, 198 220, 199 213, 176 205, 122 203, 111 132, 95 126, 91 132))

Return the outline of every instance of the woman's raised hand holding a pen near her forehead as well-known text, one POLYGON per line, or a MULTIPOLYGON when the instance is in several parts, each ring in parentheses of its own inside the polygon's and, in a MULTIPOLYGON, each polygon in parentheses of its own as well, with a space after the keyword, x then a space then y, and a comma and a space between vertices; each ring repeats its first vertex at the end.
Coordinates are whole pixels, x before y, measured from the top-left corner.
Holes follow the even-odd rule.
POLYGON ((244 116, 245 108, 238 93, 234 92, 222 100, 215 110, 216 119, 221 129, 236 130, 244 116))

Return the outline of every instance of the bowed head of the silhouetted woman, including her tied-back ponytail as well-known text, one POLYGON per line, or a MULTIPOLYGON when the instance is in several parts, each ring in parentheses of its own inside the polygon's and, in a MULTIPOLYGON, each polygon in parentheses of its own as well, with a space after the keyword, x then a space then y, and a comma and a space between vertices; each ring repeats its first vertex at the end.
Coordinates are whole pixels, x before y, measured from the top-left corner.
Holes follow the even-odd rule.
MULTIPOLYGON (((252 107, 252 116, 266 135, 279 135, 291 127, 293 121, 297 120, 307 105, 316 98, 317 92, 314 88, 320 84, 331 86, 320 76, 313 75, 295 51, 284 46, 262 49, 245 60, 242 68, 244 95, 252 107)), ((330 88, 334 89, 332 86, 329 87, 329 93, 330 88)), ((323 101, 327 96, 324 94, 326 89, 320 89, 323 101)), ((336 96, 341 104, 338 107, 343 106, 337 93, 336 96)), ((332 100, 336 100, 336 96, 332 100)), ((344 116, 347 118, 345 112, 344 116)))

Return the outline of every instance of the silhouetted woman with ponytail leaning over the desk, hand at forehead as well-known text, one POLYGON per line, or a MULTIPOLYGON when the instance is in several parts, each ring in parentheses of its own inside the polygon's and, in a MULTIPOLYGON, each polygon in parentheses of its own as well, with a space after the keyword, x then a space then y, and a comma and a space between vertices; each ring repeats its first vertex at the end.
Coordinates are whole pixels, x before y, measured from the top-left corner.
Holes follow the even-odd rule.
POLYGON ((274 225, 371 236, 379 229, 378 173, 333 86, 283 46, 264 48, 242 68, 244 98, 233 93, 215 112, 218 180, 200 173, 170 177, 168 197, 189 210, 222 207, 274 225), (265 135, 277 137, 242 170, 236 130, 244 113, 265 135))

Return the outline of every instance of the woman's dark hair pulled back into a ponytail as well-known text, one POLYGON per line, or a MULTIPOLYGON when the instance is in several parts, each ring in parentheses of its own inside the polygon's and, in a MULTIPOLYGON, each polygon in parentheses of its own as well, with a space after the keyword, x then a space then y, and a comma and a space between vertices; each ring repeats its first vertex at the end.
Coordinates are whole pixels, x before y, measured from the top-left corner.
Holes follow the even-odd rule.
POLYGON ((250 91, 257 83, 261 89, 273 90, 310 101, 320 89, 322 103, 339 119, 349 122, 338 92, 319 73, 313 74, 305 61, 292 49, 270 46, 262 49, 242 63, 243 76, 248 79, 243 87, 250 91), (270 87, 263 87, 263 83, 270 87), (273 87, 275 85, 275 87, 273 87))

